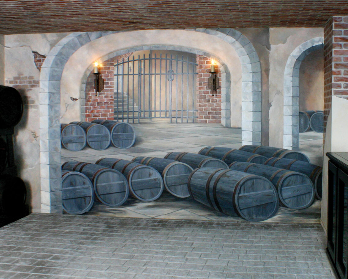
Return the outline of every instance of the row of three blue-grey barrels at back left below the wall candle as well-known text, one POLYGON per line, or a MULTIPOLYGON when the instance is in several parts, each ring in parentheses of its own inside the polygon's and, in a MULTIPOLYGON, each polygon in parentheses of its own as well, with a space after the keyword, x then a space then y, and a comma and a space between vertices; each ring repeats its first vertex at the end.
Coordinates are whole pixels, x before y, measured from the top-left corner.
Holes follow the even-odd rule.
POLYGON ((110 144, 117 148, 130 148, 135 142, 133 127, 126 122, 94 120, 73 121, 61 124, 61 142, 65 149, 79 151, 88 145, 95 150, 105 150, 110 144))

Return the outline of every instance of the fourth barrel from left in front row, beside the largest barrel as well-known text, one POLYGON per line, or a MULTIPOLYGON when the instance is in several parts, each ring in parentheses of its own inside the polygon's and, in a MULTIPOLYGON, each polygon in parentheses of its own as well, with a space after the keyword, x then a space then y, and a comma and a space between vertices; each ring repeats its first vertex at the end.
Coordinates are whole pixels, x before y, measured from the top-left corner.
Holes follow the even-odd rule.
POLYGON ((156 157, 134 157, 134 162, 153 167, 161 173, 164 188, 173 196, 187 198, 190 196, 187 189, 187 179, 193 171, 189 165, 175 160, 156 157))

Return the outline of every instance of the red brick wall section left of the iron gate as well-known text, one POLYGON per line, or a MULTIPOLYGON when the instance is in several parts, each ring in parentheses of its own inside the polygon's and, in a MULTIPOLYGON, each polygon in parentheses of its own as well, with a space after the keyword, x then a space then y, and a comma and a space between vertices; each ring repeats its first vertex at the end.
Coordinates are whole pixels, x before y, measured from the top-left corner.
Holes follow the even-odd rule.
POLYGON ((85 120, 90 122, 95 119, 114 119, 113 95, 114 95, 114 64, 117 60, 126 59, 132 53, 116 56, 105 60, 99 66, 99 73, 104 80, 104 89, 96 95, 94 88, 95 75, 89 74, 86 82, 86 107, 85 120))

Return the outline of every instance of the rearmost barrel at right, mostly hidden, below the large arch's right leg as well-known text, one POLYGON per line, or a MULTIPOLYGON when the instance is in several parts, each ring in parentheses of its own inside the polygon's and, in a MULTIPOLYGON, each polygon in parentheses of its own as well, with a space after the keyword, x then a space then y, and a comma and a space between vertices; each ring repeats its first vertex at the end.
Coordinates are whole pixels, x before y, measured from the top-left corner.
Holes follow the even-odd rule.
POLYGON ((239 150, 244 150, 244 151, 260 154, 267 158, 279 157, 279 158, 286 158, 286 159, 296 159, 296 160, 301 160, 301 161, 310 163, 310 160, 306 156, 306 154, 300 151, 288 150, 284 148, 277 148, 277 147, 263 146, 263 145, 243 145, 241 148, 239 148, 239 150))

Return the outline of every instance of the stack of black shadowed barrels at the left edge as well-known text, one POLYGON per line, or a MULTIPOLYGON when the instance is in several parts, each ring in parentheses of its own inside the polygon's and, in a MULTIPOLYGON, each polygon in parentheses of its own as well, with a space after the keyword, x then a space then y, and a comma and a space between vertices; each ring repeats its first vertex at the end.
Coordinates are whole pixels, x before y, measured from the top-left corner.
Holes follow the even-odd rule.
POLYGON ((17 177, 14 164, 14 126, 22 119, 23 103, 19 92, 0 85, 0 227, 29 214, 25 204, 26 187, 17 177))

